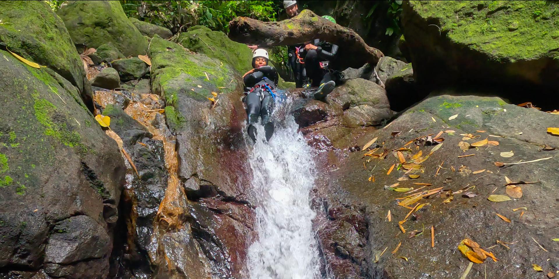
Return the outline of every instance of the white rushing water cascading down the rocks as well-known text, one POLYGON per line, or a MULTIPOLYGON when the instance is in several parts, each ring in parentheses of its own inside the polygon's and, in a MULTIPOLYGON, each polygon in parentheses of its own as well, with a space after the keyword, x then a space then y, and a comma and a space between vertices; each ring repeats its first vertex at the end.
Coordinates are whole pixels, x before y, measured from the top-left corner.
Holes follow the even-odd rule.
MULTIPOLYGON (((288 103, 276 107, 274 115, 286 112, 288 103)), ((276 121, 276 132, 264 143, 264 130, 258 125, 257 143, 249 158, 258 196, 258 239, 248 250, 251 279, 314 279, 319 275, 311 224, 315 213, 309 204, 315 166, 311 147, 298 128, 287 114, 276 121)))

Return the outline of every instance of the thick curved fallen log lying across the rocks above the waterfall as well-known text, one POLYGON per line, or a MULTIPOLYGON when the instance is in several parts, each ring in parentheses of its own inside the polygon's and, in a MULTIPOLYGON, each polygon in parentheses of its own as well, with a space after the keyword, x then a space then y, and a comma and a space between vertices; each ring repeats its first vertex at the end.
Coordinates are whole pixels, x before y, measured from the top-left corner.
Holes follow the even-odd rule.
POLYGON ((384 56, 365 44, 353 30, 317 16, 308 9, 299 16, 278 22, 262 22, 248 17, 236 17, 229 22, 229 38, 260 47, 295 45, 321 39, 340 46, 336 68, 359 68, 366 62, 375 65, 384 56))

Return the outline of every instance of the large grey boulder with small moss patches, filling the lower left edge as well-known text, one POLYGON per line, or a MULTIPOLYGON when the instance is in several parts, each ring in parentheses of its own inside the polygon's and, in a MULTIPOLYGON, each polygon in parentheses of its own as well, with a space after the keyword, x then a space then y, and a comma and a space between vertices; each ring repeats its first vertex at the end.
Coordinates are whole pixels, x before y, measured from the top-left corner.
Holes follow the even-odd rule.
POLYGON ((117 144, 68 80, 48 68, 31 68, 9 52, 0 50, 0 57, 0 267, 45 268, 52 277, 79 267, 101 278, 108 273, 110 242, 83 242, 79 251, 103 252, 74 254, 71 262, 44 262, 45 246, 65 251, 63 242, 49 239, 57 233, 56 223, 76 215, 98 226, 100 234, 87 232, 92 239, 112 235, 126 170, 117 144))

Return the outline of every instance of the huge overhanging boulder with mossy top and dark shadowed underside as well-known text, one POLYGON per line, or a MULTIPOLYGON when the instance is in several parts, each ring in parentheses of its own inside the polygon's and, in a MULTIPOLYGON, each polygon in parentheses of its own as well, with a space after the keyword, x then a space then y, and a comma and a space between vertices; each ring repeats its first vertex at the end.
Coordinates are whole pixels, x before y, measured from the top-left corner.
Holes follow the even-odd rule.
POLYGON ((402 27, 422 86, 493 86, 514 102, 556 98, 556 1, 406 1, 402 27), (526 89, 538 93, 527 98, 526 89))

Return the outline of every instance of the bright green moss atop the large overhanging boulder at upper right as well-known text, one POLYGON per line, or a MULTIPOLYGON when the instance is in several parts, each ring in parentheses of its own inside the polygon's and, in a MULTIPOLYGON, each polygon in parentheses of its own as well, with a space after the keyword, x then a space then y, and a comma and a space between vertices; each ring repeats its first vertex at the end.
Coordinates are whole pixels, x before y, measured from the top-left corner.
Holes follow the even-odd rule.
POLYGON ((552 1, 410 3, 421 17, 439 20, 443 36, 496 60, 536 59, 559 49, 559 40, 552 37, 559 28, 555 23, 559 20, 559 7, 552 1), (467 23, 460 24, 461 21, 467 23))

